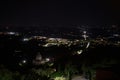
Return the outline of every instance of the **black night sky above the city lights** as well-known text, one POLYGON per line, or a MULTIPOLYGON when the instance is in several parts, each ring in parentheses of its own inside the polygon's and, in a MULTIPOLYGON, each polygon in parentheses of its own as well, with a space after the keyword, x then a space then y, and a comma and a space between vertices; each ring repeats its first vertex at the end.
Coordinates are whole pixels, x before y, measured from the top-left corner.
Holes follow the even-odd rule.
POLYGON ((0 24, 119 24, 117 0, 39 0, 0 2, 0 24))

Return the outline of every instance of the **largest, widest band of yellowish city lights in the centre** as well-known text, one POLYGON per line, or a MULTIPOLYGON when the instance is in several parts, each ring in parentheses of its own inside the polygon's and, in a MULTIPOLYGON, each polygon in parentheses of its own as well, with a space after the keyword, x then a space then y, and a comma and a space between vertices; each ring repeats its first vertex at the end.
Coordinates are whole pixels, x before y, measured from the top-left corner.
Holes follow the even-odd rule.
POLYGON ((71 45, 77 45, 78 43, 81 42, 79 39, 75 39, 75 40, 71 41, 69 39, 47 38, 47 37, 43 37, 43 36, 34 36, 34 37, 29 37, 29 38, 23 38, 23 41, 27 42, 27 41, 30 41, 32 39, 44 41, 45 44, 41 45, 40 43, 38 43, 38 46, 43 46, 43 47, 60 46, 60 45, 71 46, 71 45))

